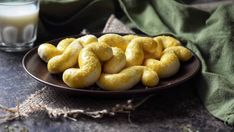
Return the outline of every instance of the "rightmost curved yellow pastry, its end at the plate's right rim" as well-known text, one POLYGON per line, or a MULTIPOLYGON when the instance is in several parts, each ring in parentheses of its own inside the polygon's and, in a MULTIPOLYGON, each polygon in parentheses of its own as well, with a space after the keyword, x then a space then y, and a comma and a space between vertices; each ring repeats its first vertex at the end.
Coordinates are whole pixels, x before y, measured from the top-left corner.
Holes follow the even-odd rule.
POLYGON ((190 58, 192 58, 192 52, 183 46, 173 46, 166 48, 163 51, 163 53, 168 53, 168 52, 175 53, 179 58, 179 60, 181 61, 188 61, 190 58))

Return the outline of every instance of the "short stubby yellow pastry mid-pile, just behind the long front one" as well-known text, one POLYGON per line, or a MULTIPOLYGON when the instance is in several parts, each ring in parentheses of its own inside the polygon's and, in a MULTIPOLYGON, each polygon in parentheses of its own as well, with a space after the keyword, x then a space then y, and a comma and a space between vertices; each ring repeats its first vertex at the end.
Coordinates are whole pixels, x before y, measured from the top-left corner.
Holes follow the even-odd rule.
POLYGON ((113 56, 103 64, 104 73, 118 73, 126 66, 126 56, 120 48, 112 47, 113 56))

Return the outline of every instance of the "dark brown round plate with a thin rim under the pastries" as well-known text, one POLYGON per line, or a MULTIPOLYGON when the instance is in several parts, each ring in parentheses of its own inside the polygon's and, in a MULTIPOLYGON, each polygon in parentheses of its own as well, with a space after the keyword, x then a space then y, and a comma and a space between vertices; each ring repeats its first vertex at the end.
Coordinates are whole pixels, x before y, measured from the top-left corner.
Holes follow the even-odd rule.
MULTIPOLYGON (((95 34, 97 37, 102 34, 95 34)), ((124 35, 124 34, 121 34, 124 35)), ((74 35, 69 37, 79 37, 81 35, 74 35)), ((49 41, 49 43, 57 44, 61 39, 55 39, 49 41)), ((37 48, 31 49, 25 54, 23 58, 23 67, 25 71, 34 79, 44 83, 48 87, 62 90, 63 92, 77 94, 77 95, 88 95, 88 96, 105 96, 105 97, 123 97, 123 96, 138 96, 147 95, 158 92, 160 90, 166 90, 168 88, 175 88, 177 85, 184 83, 191 79, 200 69, 200 61, 197 56, 193 55, 192 59, 182 63, 179 72, 167 79, 161 79, 160 83, 156 87, 146 88, 141 84, 137 84, 130 90, 127 91, 104 91, 97 85, 93 85, 86 89, 74 89, 68 87, 63 83, 61 75, 52 75, 47 71, 47 65, 43 62, 38 54, 37 48)))

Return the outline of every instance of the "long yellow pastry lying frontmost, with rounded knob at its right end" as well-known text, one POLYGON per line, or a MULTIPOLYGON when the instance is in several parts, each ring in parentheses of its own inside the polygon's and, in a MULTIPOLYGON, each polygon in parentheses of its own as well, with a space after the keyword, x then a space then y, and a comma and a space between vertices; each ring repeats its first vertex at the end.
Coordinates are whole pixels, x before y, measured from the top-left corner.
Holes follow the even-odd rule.
POLYGON ((110 91, 121 91, 132 88, 142 81, 145 86, 156 86, 159 82, 156 72, 145 66, 132 66, 116 74, 102 73, 97 85, 110 91))

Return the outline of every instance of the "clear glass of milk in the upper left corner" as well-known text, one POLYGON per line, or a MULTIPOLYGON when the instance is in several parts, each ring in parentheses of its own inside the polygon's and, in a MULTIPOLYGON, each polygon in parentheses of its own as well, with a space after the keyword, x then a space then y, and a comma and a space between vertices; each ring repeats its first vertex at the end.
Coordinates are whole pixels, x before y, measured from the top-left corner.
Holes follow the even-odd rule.
POLYGON ((0 49, 32 48, 37 37, 39 0, 0 0, 0 49))

